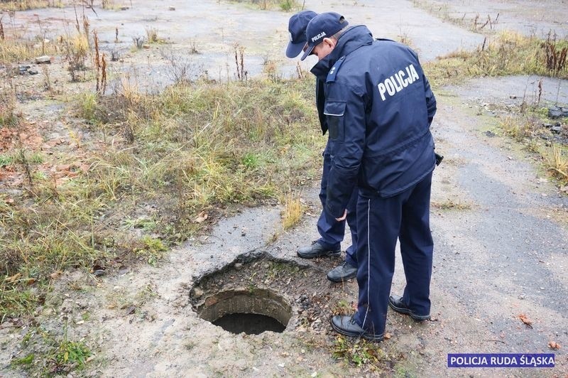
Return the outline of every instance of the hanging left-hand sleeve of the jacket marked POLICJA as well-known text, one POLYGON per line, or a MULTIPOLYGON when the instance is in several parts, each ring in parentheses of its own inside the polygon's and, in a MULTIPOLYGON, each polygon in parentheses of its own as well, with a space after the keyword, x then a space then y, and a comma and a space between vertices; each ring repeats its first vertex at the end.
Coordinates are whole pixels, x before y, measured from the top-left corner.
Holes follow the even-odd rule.
POLYGON ((328 87, 324 113, 329 139, 332 140, 332 163, 327 181, 325 203, 328 221, 342 217, 357 184, 365 145, 364 100, 345 85, 328 87))

